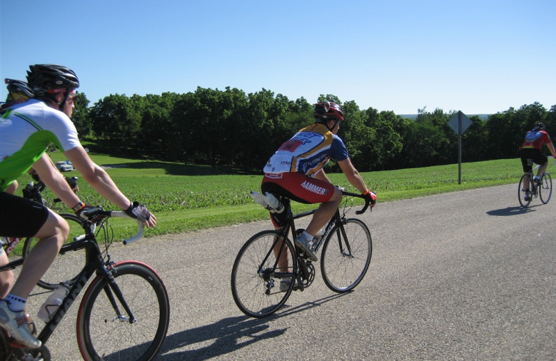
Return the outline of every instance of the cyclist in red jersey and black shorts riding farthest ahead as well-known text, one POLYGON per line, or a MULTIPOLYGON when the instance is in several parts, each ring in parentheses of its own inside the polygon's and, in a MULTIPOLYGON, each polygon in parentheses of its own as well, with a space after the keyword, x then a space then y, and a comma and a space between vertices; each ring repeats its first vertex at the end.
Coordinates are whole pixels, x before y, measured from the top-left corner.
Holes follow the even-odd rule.
MULTIPOLYGON (((542 153, 544 144, 546 144, 552 156, 556 158, 556 151, 552 140, 550 140, 550 135, 544 130, 544 124, 537 121, 532 130, 525 134, 525 140, 523 140, 523 144, 521 144, 520 147, 521 165, 523 166, 523 173, 525 175, 529 174, 533 167, 527 164, 528 159, 540 165, 537 176, 534 177, 535 183, 541 181, 541 177, 544 171, 546 171, 546 167, 548 167, 548 158, 542 153)), ((529 189, 529 181, 530 179, 525 177, 525 181, 523 181, 523 192, 529 189)), ((525 199, 525 201, 530 201, 530 194, 524 194, 523 199, 525 199)))

